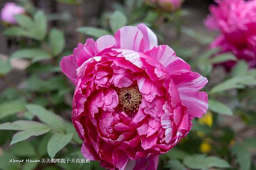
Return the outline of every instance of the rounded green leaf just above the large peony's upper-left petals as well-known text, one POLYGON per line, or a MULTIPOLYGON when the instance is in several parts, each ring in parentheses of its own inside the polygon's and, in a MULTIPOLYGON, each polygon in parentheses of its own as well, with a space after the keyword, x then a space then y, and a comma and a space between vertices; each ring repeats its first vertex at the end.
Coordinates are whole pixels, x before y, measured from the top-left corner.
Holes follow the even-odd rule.
POLYGON ((110 28, 113 32, 113 34, 116 33, 116 31, 125 26, 127 24, 127 18, 125 16, 125 14, 123 14, 120 11, 115 11, 111 17, 110 17, 110 28))

